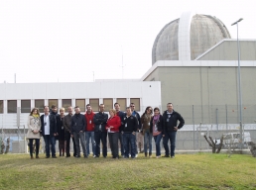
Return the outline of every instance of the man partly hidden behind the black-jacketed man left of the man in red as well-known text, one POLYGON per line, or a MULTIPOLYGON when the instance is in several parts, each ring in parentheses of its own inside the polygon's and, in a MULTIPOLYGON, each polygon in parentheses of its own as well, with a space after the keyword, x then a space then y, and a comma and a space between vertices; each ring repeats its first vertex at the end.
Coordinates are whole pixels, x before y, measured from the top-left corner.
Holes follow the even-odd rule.
MULTIPOLYGON (((67 108, 68 114, 64 117, 64 139, 65 139, 65 153, 66 157, 70 157, 70 138, 71 138, 71 129, 70 129, 70 122, 72 118, 72 107, 69 106, 67 108)), ((76 148, 74 138, 72 138, 73 144, 73 156, 76 155, 76 148)))

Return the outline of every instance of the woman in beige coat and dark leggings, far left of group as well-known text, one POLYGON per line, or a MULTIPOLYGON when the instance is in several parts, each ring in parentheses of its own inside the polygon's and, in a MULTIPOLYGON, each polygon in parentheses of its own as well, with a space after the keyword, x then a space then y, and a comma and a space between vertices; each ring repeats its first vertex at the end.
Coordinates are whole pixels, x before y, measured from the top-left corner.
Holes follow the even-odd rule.
POLYGON ((36 141, 36 158, 39 158, 39 145, 40 145, 40 113, 38 108, 33 108, 28 118, 28 134, 27 139, 30 141, 30 157, 33 159, 33 142, 36 141))

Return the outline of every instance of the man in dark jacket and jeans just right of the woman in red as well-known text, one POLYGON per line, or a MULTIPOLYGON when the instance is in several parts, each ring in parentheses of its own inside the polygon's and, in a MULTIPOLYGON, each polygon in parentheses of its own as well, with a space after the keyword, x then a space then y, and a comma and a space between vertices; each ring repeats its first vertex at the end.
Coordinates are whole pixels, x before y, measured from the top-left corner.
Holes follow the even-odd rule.
POLYGON ((131 146, 131 157, 135 158, 135 136, 138 129, 138 120, 132 115, 130 107, 126 108, 126 116, 123 122, 124 125, 121 127, 121 133, 123 135, 125 158, 129 157, 129 146, 131 146))

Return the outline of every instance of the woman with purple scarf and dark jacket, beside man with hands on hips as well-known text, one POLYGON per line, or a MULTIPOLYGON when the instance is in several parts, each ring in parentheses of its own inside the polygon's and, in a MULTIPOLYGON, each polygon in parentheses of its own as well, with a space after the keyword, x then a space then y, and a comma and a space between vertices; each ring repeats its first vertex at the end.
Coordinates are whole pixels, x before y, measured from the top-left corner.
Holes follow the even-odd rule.
POLYGON ((164 119, 163 116, 160 115, 159 108, 154 108, 154 117, 152 117, 150 122, 150 132, 153 133, 153 137, 156 142, 156 156, 157 158, 160 158, 160 142, 164 135, 164 119))

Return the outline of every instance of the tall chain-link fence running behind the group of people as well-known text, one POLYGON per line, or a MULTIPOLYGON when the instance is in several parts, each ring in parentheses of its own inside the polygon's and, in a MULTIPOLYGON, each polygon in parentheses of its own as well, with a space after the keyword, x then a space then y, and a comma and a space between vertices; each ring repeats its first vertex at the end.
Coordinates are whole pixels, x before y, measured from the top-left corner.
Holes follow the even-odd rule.
MULTIPOLYGON (((141 115, 146 107, 141 106, 141 115)), ((161 113, 163 113, 165 109, 161 106, 158 107, 161 109, 161 113)), ((205 141, 204 136, 211 137, 215 142, 219 142, 222 135, 225 135, 225 137, 231 137, 234 142, 240 142, 241 131, 243 148, 248 148, 247 142, 256 142, 256 105, 243 106, 241 130, 237 106, 174 105, 174 109, 183 116, 186 124, 177 134, 177 150, 210 149, 211 147, 205 141)), ((29 113, 0 114, 0 149, 3 143, 5 146, 7 145, 7 139, 10 138, 10 152, 28 152, 29 148, 26 140, 28 115, 29 113)), ((155 142, 154 140, 152 141, 153 149, 155 150, 155 142)), ((58 152, 58 141, 56 147, 58 152)), ((223 148, 227 148, 225 142, 223 148)), ((72 144, 70 144, 70 149, 72 150, 72 144)), ((41 151, 44 151, 43 138, 41 139, 41 151)), ((164 147, 162 144, 163 152, 164 147)))

